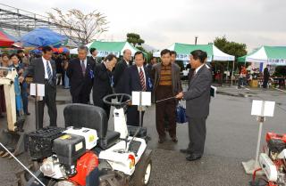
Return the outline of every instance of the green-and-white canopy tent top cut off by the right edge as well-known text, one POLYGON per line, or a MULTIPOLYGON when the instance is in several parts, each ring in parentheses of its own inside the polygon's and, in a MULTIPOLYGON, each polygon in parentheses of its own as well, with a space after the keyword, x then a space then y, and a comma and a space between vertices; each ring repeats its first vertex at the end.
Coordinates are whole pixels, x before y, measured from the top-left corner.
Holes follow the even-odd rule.
POLYGON ((238 58, 239 62, 259 62, 286 66, 286 46, 261 46, 256 51, 238 58))

